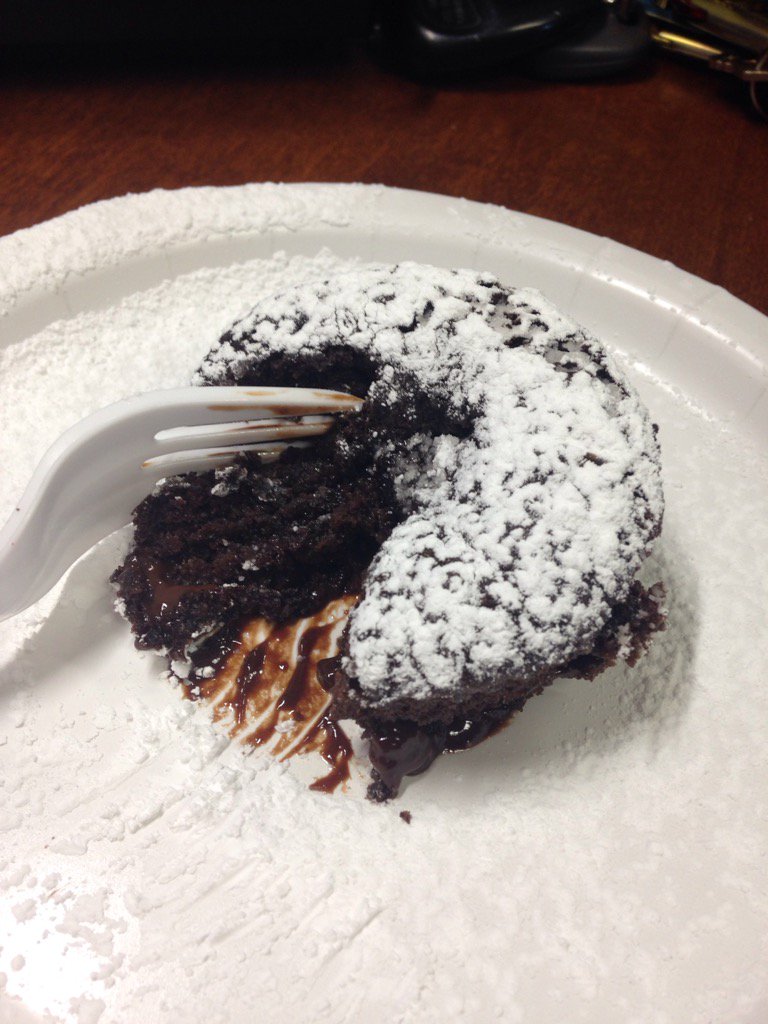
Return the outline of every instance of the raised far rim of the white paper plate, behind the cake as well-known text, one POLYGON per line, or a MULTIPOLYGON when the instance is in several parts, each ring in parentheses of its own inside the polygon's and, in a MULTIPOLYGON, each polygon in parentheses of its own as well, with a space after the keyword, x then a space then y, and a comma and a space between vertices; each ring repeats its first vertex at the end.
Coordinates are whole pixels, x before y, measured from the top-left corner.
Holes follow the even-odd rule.
MULTIPOLYGON (((0 349, 57 319, 100 308, 104 292, 110 301, 119 301, 169 276, 259 255, 249 251, 249 241, 258 239, 263 245, 269 240, 276 251, 282 240, 312 232, 324 236, 321 247, 332 247, 334 239, 343 243, 355 232, 367 232, 371 240, 378 232, 435 245, 461 240, 472 245, 473 266, 494 254, 536 261, 545 276, 547 270, 570 275, 577 301, 580 291, 597 287, 601 295, 618 301, 624 293, 629 302, 649 303, 673 325, 656 354, 672 347, 685 349, 686 341, 702 341, 697 372, 713 356, 716 362, 730 364, 731 387, 726 387, 723 415, 751 431, 757 426, 761 435, 768 428, 768 316, 755 307, 668 261, 579 227, 475 200, 381 184, 250 182, 156 188, 99 200, 20 228, 0 238, 0 349), (199 255, 197 262, 190 259, 201 249, 206 251, 204 261, 199 255), (209 261, 209 253, 219 259, 209 261), (131 273, 116 282, 118 268, 131 273), (669 344, 673 335, 675 346, 669 344), (733 393, 734 387, 742 390, 739 381, 749 389, 746 400, 744 394, 733 393)), ((566 302, 558 304, 568 308, 566 302)), ((578 312, 573 315, 582 318, 578 312)), ((676 369, 680 376, 679 365, 676 369)), ((705 367, 703 376, 709 390, 718 394, 715 369, 705 367)), ((688 375, 683 379, 688 381, 688 375)))

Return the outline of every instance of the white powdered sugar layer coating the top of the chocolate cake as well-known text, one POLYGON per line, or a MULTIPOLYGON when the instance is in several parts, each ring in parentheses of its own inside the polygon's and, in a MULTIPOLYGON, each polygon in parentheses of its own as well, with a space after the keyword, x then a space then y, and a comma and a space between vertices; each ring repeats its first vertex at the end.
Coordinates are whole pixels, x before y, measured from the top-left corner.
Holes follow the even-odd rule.
POLYGON ((364 697, 471 692, 587 649, 663 512, 650 421, 599 343, 535 291, 406 263, 262 300, 197 380, 338 345, 375 360, 371 401, 416 381, 456 417, 473 411, 469 437, 417 437, 401 458, 410 515, 350 617, 345 668, 364 697))

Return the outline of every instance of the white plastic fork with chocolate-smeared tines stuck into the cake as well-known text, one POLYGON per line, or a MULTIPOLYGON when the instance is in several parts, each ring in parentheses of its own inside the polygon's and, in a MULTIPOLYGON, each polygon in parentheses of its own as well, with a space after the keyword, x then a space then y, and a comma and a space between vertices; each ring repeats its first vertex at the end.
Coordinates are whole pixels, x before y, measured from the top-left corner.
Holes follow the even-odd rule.
POLYGON ((81 420, 45 454, 0 530, 0 621, 124 526, 161 478, 225 466, 241 452, 276 459, 361 404, 321 389, 189 387, 150 391, 81 420))

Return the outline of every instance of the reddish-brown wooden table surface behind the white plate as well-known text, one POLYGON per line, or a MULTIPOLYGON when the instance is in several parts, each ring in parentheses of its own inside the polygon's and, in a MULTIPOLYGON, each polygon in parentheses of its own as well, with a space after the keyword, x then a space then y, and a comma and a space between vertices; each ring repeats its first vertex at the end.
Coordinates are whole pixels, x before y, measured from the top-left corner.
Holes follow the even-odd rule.
POLYGON ((768 126, 742 88, 667 57, 611 82, 441 89, 362 54, 260 73, 16 72, 0 79, 0 233, 157 186, 383 182, 607 236, 768 312, 768 126))

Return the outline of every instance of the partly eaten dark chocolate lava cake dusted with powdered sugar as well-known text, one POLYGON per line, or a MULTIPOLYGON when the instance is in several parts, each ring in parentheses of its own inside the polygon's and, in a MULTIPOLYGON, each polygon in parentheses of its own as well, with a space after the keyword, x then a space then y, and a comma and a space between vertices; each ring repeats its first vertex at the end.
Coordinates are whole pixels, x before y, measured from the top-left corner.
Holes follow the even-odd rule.
POLYGON ((601 345, 488 274, 369 266, 262 300, 195 383, 365 398, 309 449, 163 481, 114 574, 141 647, 183 658, 359 595, 319 666, 371 738, 373 796, 560 676, 662 628, 655 429, 601 345))

